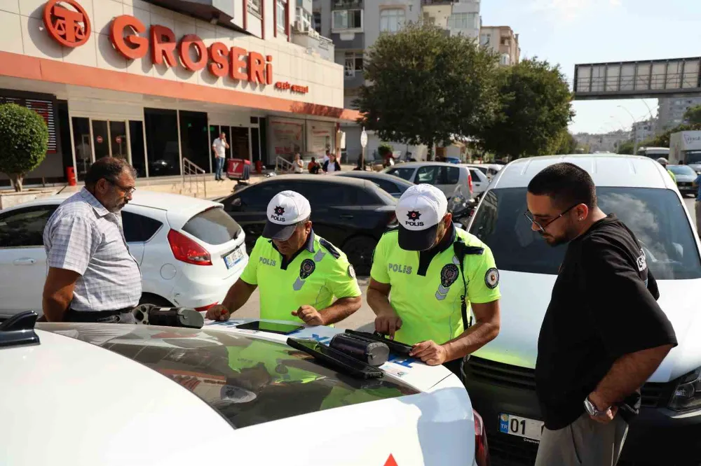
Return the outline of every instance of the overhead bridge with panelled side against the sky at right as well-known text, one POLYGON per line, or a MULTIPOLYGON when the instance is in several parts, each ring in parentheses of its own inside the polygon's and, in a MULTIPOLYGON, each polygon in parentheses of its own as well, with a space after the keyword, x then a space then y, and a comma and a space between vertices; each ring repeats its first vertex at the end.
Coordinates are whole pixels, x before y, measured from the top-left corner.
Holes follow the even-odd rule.
POLYGON ((701 96, 701 57, 576 64, 574 99, 701 96))

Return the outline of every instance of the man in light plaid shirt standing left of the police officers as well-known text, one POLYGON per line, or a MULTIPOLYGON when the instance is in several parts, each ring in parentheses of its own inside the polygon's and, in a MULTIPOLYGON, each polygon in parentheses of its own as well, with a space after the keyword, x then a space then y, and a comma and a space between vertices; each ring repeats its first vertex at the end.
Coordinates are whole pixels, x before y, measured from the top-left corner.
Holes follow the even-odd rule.
POLYGON ((135 178, 124 159, 102 157, 88 169, 85 187, 49 218, 43 232, 46 320, 134 322, 142 276, 127 248, 120 211, 132 199, 135 178))

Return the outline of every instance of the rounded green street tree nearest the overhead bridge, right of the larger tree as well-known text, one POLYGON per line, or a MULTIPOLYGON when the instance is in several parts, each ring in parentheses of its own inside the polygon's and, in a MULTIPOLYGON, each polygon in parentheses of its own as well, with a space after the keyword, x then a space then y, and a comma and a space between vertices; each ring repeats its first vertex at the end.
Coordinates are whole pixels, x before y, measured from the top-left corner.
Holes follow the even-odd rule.
POLYGON ((496 118, 480 134, 486 150, 514 158, 552 153, 571 122, 571 93, 559 66, 537 58, 499 69, 496 118))

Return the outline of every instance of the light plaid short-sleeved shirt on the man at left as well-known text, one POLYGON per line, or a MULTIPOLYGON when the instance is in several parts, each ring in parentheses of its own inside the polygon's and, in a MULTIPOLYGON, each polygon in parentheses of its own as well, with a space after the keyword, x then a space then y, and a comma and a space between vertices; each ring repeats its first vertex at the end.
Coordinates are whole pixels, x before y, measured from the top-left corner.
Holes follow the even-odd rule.
POLYGON ((81 274, 74 311, 114 311, 139 303, 141 271, 127 248, 121 214, 109 212, 86 188, 56 209, 43 243, 48 267, 81 274))

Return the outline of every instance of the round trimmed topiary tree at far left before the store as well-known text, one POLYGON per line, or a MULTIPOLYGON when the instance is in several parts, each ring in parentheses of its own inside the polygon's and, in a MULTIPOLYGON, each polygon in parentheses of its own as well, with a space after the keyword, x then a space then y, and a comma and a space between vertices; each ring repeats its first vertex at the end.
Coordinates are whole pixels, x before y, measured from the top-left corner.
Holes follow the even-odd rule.
POLYGON ((22 190, 25 175, 39 167, 48 149, 48 128, 33 110, 17 104, 0 105, 0 172, 15 191, 22 190))

